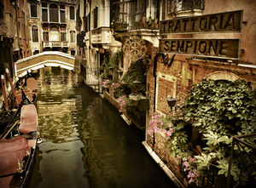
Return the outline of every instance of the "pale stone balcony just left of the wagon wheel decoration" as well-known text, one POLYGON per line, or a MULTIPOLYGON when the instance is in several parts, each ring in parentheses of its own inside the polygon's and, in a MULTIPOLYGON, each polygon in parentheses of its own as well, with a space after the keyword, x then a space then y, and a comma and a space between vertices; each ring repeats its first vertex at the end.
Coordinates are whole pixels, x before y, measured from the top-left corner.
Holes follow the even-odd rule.
POLYGON ((91 31, 91 43, 108 45, 112 42, 111 29, 109 27, 98 27, 91 31))

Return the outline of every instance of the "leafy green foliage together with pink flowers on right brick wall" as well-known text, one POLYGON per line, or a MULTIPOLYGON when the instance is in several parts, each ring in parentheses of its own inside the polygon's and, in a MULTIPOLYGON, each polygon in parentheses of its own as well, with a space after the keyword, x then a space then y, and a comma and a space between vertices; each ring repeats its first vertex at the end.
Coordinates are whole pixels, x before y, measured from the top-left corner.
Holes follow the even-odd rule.
MULTIPOLYGON (((250 83, 242 80, 202 80, 189 91, 178 119, 180 120, 162 117, 161 121, 157 121, 160 122, 158 125, 153 117, 149 122, 148 134, 160 130, 166 132, 172 128, 172 135, 166 146, 171 154, 185 158, 183 165, 184 170, 189 171, 189 182, 198 184, 199 177, 202 177, 200 174, 209 172, 227 177, 233 136, 253 134, 256 131, 256 91, 250 83), (193 157, 195 153, 192 151, 191 140, 189 141, 189 132, 185 131, 186 123, 192 123, 203 135, 199 138, 204 141, 200 156, 193 157), (185 140, 181 140, 178 137, 180 135, 185 140)), ((255 137, 245 140, 255 146, 255 137)), ((246 150, 249 151, 248 148, 246 150)), ((230 172, 233 181, 238 181, 243 165, 240 151, 235 147, 230 172)), ((244 174, 241 179, 244 184, 247 184, 247 175, 244 174)), ((256 174, 253 174, 253 179, 256 179, 256 174)))

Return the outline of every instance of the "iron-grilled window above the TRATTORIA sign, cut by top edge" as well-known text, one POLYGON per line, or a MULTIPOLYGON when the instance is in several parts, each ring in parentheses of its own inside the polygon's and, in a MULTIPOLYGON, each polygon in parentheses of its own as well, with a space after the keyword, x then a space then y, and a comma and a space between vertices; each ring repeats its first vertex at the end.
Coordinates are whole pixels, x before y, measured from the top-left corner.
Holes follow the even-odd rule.
POLYGON ((204 0, 167 0, 167 13, 172 14, 179 11, 194 11, 204 9, 204 0))

